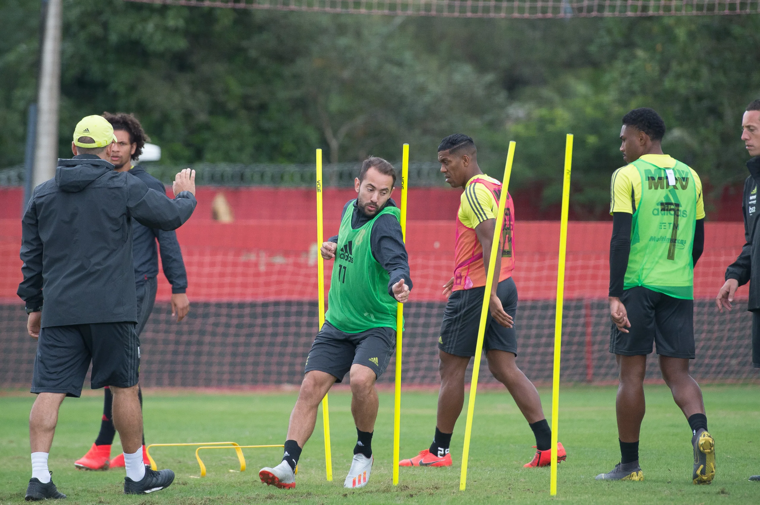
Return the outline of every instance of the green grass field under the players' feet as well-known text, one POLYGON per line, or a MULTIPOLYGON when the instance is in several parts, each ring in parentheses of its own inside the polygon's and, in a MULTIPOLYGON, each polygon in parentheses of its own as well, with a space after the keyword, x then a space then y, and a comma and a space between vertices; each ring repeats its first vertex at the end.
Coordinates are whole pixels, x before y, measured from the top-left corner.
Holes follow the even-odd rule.
MULTIPOLYGON (((710 431, 717 441, 717 477, 710 486, 692 485, 690 432, 682 413, 663 386, 647 387, 647 416, 641 438, 644 482, 597 482, 594 475, 619 460, 614 387, 565 387, 562 390, 559 440, 568 459, 559 466, 562 503, 760 503, 760 387, 708 386, 703 389, 710 431)), ((550 410, 551 395, 542 390, 550 410)), ((145 393, 148 443, 236 441, 282 444, 296 393, 171 394, 145 393)), ((435 422, 434 392, 408 392, 403 397, 401 457, 428 447, 435 422)), ((373 450, 375 466, 369 485, 359 491, 342 487, 350 466, 356 431, 350 416, 350 394, 330 396, 334 480, 325 481, 321 421, 302 453, 297 487, 283 491, 261 485, 258 469, 280 461, 281 449, 248 449, 248 469, 239 469, 233 450, 208 451, 208 474, 199 478, 194 450, 156 448, 160 468, 171 468, 171 488, 144 497, 122 493, 123 469, 84 472, 74 460, 92 444, 100 426, 100 395, 67 399, 55 434, 50 469, 66 503, 545 503, 549 469, 524 469, 533 455, 530 428, 505 391, 483 391, 477 397, 467 491, 459 491, 464 414, 452 440, 454 466, 401 469, 398 487, 391 485, 393 396, 380 398, 373 450)), ((30 394, 0 396, 0 503, 21 503, 30 477, 27 419, 30 394)), ((321 416, 320 418, 321 419, 321 416)), ((118 440, 118 438, 117 438, 118 440)), ((118 442, 112 456, 120 451, 118 442)))

